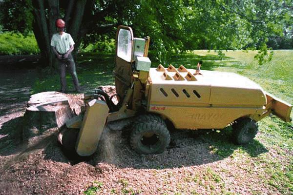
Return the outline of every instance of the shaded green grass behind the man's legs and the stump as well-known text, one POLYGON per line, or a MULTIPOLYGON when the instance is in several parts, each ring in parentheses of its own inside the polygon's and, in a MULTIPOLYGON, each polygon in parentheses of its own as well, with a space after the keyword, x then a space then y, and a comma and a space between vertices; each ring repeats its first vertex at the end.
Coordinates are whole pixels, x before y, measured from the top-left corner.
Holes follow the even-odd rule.
MULTIPOLYGON (((91 93, 100 85, 114 85, 112 72, 114 69, 114 55, 86 53, 76 59, 77 76, 84 93, 91 93)), ((74 91, 72 77, 66 69, 68 92, 74 91)), ((59 91, 61 88, 59 74, 36 80, 32 94, 44 91, 59 91)))

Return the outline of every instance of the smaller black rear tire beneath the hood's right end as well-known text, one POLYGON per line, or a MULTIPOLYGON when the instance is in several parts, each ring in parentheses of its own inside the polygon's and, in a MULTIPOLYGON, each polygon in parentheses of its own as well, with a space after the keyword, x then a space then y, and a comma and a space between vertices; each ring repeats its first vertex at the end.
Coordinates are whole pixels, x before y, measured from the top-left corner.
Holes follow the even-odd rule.
POLYGON ((257 123, 251 118, 240 118, 232 124, 232 141, 237 145, 250 143, 258 132, 257 123))

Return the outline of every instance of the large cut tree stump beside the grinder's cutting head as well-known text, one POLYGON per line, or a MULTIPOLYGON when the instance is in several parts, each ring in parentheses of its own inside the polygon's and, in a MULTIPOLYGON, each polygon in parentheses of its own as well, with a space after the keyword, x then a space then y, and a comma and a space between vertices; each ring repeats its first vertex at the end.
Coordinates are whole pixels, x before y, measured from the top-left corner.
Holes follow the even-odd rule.
POLYGON ((84 95, 42 92, 30 97, 23 117, 22 140, 31 142, 48 132, 56 132, 81 113, 84 95))

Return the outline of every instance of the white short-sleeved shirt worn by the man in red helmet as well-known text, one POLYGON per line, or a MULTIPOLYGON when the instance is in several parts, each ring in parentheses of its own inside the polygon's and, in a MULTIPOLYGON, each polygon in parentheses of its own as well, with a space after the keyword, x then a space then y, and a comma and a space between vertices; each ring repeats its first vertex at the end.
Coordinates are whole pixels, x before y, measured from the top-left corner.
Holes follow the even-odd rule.
POLYGON ((55 47, 60 54, 65 54, 70 49, 70 45, 74 44, 71 35, 65 32, 62 35, 56 33, 51 39, 51 46, 55 47))

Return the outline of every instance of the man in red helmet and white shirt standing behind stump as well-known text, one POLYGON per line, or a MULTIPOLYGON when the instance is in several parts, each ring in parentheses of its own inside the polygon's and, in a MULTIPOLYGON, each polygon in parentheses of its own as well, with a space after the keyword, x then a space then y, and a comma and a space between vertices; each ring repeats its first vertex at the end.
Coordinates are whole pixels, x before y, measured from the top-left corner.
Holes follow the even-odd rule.
POLYGON ((60 64, 61 92, 66 93, 67 90, 65 78, 66 67, 70 70, 75 90, 80 92, 75 63, 71 55, 75 43, 70 34, 64 32, 65 22, 62 19, 56 20, 56 27, 58 28, 58 33, 52 36, 51 46, 60 64))

